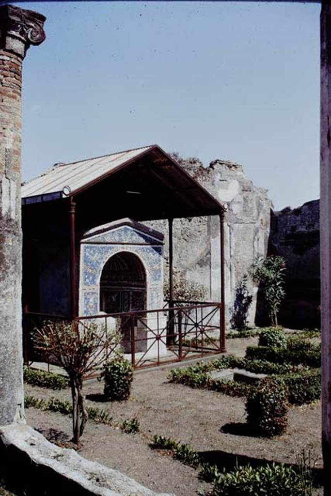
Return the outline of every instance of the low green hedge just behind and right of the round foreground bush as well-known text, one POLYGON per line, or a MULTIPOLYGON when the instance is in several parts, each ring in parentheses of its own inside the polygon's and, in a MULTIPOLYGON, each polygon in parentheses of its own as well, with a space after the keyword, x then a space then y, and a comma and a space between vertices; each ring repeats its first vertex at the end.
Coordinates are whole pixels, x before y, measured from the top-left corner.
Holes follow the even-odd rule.
POLYGON ((311 403, 321 396, 321 371, 314 369, 281 375, 288 389, 288 401, 292 405, 311 403))

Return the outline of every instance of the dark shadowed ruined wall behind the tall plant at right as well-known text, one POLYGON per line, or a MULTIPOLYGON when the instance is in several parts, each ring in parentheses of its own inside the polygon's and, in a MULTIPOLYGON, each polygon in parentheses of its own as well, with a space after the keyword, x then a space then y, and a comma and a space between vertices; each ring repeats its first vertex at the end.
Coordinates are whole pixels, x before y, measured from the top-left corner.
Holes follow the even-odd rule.
POLYGON ((279 321, 287 327, 320 326, 320 202, 272 212, 269 253, 285 257, 286 299, 279 321))

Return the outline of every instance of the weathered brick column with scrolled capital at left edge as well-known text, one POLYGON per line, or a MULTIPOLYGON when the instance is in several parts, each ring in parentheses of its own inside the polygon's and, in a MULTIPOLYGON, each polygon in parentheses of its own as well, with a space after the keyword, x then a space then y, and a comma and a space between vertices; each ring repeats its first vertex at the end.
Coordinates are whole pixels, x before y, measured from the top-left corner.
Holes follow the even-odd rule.
POLYGON ((21 72, 45 17, 0 7, 0 425, 24 422, 21 316, 21 72))

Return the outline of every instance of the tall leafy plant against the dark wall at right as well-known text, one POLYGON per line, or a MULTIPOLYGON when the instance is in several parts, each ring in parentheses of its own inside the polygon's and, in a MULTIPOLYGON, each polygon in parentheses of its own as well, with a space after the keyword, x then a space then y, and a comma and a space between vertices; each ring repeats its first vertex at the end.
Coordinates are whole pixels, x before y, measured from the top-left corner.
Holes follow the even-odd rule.
POLYGON ((255 282, 263 285, 263 294, 269 309, 271 325, 278 325, 277 313, 280 304, 285 298, 285 258, 279 255, 270 255, 254 260, 251 274, 255 282))

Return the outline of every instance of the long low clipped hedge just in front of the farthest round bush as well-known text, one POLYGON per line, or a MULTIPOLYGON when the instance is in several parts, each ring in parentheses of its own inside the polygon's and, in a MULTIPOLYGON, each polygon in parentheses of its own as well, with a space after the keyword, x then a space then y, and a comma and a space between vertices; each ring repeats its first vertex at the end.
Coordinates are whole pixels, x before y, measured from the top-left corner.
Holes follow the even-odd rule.
POLYGON ((309 341, 288 341, 287 348, 268 348, 266 346, 248 346, 246 358, 253 360, 267 360, 278 364, 307 365, 308 367, 321 366, 321 348, 309 341), (302 346, 300 346, 300 343, 302 346))

